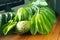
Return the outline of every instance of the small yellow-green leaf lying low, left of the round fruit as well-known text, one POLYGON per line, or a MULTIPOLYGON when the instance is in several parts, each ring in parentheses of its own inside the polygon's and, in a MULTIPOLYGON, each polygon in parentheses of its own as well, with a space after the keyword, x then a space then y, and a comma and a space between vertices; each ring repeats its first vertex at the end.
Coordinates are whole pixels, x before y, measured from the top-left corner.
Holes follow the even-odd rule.
POLYGON ((5 24, 3 29, 4 35, 7 35, 8 32, 15 27, 15 25, 16 25, 16 22, 13 22, 13 21, 10 21, 7 24, 5 24))

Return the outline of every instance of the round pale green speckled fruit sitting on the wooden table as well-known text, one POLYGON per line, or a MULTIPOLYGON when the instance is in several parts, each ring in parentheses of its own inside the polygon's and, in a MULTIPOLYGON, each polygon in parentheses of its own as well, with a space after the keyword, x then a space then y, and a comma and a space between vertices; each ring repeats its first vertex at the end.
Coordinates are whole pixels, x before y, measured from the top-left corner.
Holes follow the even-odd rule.
POLYGON ((18 34, 24 34, 30 30, 30 21, 20 21, 17 23, 16 31, 18 34))

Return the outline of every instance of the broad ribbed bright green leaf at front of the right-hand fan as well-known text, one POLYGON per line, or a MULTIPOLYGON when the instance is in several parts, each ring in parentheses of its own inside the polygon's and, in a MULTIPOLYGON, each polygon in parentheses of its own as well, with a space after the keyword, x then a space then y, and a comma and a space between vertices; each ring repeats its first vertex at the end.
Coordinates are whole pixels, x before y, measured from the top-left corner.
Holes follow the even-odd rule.
POLYGON ((38 32, 40 34, 48 34, 51 31, 52 23, 46 18, 43 12, 40 14, 40 27, 38 26, 38 32))

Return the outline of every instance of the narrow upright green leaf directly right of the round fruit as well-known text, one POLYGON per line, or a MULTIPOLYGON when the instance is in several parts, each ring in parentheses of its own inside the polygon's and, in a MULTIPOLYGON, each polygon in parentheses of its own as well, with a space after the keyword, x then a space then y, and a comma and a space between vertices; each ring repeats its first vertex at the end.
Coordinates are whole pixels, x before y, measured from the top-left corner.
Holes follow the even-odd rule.
POLYGON ((30 32, 32 35, 35 35, 38 31, 38 25, 37 25, 37 18, 38 17, 39 17, 39 14, 35 14, 31 19, 30 32))

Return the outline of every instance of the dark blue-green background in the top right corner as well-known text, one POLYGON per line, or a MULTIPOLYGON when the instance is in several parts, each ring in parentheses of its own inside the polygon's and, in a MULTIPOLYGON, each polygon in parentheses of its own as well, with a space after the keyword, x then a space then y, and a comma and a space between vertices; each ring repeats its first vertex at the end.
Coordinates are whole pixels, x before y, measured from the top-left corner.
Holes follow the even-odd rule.
POLYGON ((55 10, 57 15, 60 15, 60 0, 47 0, 50 7, 55 10))

